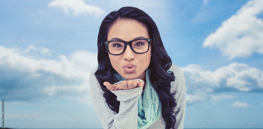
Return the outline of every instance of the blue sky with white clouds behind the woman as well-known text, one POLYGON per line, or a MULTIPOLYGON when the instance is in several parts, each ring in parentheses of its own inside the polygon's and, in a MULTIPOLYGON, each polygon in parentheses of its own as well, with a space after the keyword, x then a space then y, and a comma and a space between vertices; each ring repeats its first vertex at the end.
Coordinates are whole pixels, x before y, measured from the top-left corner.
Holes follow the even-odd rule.
POLYGON ((5 127, 102 128, 89 92, 99 26, 133 6, 153 18, 185 74, 185 128, 263 128, 263 1, 102 2, 0 2, 5 127))

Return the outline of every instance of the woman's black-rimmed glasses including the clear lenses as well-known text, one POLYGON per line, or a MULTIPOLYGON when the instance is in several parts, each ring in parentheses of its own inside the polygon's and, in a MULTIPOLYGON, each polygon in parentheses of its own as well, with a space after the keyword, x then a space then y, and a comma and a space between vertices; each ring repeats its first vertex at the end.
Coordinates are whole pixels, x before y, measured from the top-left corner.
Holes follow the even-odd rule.
POLYGON ((122 54, 126 46, 129 45, 131 50, 135 53, 142 54, 149 51, 151 39, 135 39, 128 42, 122 40, 105 41, 108 52, 111 55, 122 54))

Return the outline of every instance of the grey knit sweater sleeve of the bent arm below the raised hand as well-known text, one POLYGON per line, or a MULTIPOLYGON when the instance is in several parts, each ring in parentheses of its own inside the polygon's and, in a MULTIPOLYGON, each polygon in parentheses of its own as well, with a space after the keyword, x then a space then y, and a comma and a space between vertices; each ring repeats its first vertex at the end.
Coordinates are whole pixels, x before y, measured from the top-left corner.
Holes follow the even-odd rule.
POLYGON ((142 93, 143 87, 112 91, 117 96, 117 100, 120 101, 119 113, 116 114, 105 102, 103 90, 94 75, 95 71, 96 69, 90 73, 89 88, 95 111, 103 128, 138 128, 138 98, 142 93))

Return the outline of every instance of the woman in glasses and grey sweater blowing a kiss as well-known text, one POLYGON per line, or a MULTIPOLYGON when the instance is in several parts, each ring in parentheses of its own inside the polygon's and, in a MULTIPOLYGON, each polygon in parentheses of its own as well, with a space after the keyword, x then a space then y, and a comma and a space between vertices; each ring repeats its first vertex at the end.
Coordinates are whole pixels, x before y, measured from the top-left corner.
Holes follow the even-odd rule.
POLYGON ((103 128, 183 129, 184 73, 172 64, 153 19, 138 8, 103 19, 89 82, 103 128))

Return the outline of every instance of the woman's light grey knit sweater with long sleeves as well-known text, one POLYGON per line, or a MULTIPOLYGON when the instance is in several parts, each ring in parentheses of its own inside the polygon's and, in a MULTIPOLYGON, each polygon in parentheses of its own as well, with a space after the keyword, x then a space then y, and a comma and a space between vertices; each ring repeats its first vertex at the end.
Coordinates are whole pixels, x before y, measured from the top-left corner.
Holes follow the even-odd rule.
MULTIPOLYGON (((98 80, 96 79, 94 68, 89 77, 89 88, 92 102, 99 120, 104 129, 137 129, 138 128, 138 98, 142 94, 143 87, 138 87, 129 90, 112 91, 120 101, 119 113, 116 114, 112 111, 103 97, 103 90, 101 89, 98 80)), ((170 93, 177 91, 174 98, 176 99, 177 108, 180 112, 173 114, 176 117, 175 128, 183 129, 184 117, 186 110, 186 85, 183 71, 172 64, 171 71, 174 72, 175 80, 171 82, 170 93)), ((177 110, 175 108, 175 110, 177 110)), ((152 129, 165 129, 165 123, 161 116, 149 128, 152 129)))

